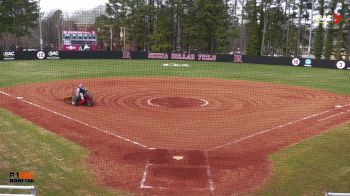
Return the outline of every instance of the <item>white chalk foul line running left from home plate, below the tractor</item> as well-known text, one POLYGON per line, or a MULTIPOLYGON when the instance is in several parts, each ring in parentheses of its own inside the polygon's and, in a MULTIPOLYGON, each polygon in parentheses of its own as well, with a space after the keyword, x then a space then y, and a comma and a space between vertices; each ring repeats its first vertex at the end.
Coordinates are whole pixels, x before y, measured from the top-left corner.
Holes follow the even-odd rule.
POLYGON ((42 110, 46 110, 46 111, 48 111, 48 112, 51 112, 51 113, 56 114, 56 115, 58 115, 58 116, 61 116, 61 117, 63 117, 63 118, 66 118, 66 119, 72 120, 72 121, 74 121, 74 122, 77 122, 77 123, 79 123, 79 124, 85 125, 85 126, 87 126, 87 127, 93 128, 93 129, 95 129, 95 130, 97 130, 97 131, 100 131, 100 132, 103 132, 103 133, 105 133, 105 134, 107 134, 107 135, 111 135, 111 136, 117 137, 117 138, 119 138, 119 139, 122 139, 122 140, 124 140, 124 141, 133 143, 133 144, 135 144, 135 145, 137 145, 137 146, 140 146, 140 147, 143 147, 143 148, 146 148, 146 149, 151 149, 150 147, 148 147, 148 146, 146 146, 146 145, 143 145, 143 144, 141 144, 141 143, 139 143, 139 142, 130 140, 130 139, 128 139, 128 138, 125 138, 125 137, 120 136, 120 135, 115 134, 115 133, 111 133, 111 132, 109 132, 109 131, 107 131, 107 130, 98 128, 98 127, 96 127, 96 126, 89 125, 88 123, 85 123, 85 122, 82 122, 82 121, 80 121, 80 120, 74 119, 74 118, 72 118, 72 117, 69 117, 69 116, 67 116, 67 115, 61 114, 61 113, 59 113, 59 112, 50 110, 50 109, 48 109, 48 108, 45 108, 45 107, 40 106, 40 105, 38 105, 38 104, 32 103, 32 102, 30 102, 30 101, 26 101, 26 100, 23 99, 23 97, 21 97, 21 98, 20 98, 20 97, 15 97, 15 96, 10 95, 10 94, 8 94, 8 93, 5 93, 5 92, 3 92, 3 91, 0 91, 0 93, 3 94, 3 95, 9 96, 9 97, 11 97, 11 98, 15 98, 15 99, 17 99, 17 100, 20 100, 20 101, 22 101, 22 102, 25 102, 25 103, 27 103, 27 104, 29 104, 29 105, 38 107, 38 108, 40 108, 40 109, 42 109, 42 110))

